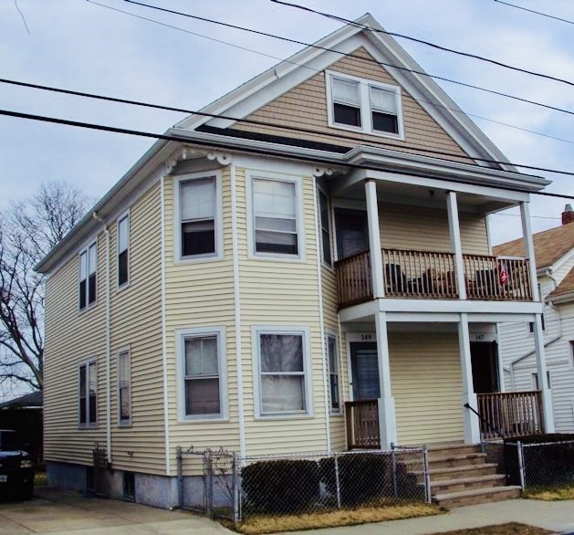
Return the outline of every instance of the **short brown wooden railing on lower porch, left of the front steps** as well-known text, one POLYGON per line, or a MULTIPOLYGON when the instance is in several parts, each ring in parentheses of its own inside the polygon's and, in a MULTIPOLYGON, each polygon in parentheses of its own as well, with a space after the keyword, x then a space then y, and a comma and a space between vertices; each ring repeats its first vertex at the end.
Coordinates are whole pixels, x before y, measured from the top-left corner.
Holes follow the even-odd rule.
POLYGON ((347 425, 347 449, 381 447, 378 400, 345 402, 345 423, 347 425))

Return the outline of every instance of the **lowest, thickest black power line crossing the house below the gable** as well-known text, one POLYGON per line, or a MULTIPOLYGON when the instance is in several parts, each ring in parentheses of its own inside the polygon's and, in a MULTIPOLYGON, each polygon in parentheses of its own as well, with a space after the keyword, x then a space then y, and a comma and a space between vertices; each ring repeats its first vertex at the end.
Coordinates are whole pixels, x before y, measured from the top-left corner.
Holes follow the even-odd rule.
MULTIPOLYGON (((34 115, 31 113, 23 113, 21 111, 0 110, 0 115, 5 115, 7 117, 15 117, 18 119, 27 119, 30 121, 51 122, 51 123, 62 124, 62 125, 66 125, 66 126, 86 128, 89 130, 122 133, 122 134, 128 134, 128 135, 133 135, 133 136, 140 136, 140 137, 144 137, 144 138, 164 140, 164 141, 168 141, 168 142, 180 142, 180 143, 185 143, 188 145, 200 145, 200 146, 204 146, 204 147, 214 147, 214 148, 225 149, 225 150, 234 150, 233 147, 230 147, 229 144, 224 143, 224 142, 213 142, 213 141, 205 141, 205 140, 204 141, 190 140, 189 138, 186 138, 185 136, 179 136, 179 135, 174 135, 174 134, 158 134, 158 133, 153 133, 153 132, 148 132, 148 131, 137 131, 137 130, 130 130, 130 129, 126 129, 126 128, 119 128, 119 127, 115 127, 115 126, 96 124, 93 122, 70 121, 68 119, 58 119, 56 117, 47 117, 45 115, 34 115)), ((321 163, 324 165, 327 164, 327 165, 333 165, 333 166, 344 166, 344 167, 349 167, 350 169, 363 169, 366 171, 381 171, 381 169, 379 169, 378 167, 374 167, 371 165, 364 165, 364 164, 360 164, 360 163, 339 162, 336 160, 330 160, 328 157, 307 156, 307 155, 298 155, 298 154, 289 154, 288 156, 285 156, 284 154, 280 154, 280 153, 273 151, 273 150, 256 149, 256 148, 252 148, 252 147, 241 147, 240 149, 235 149, 235 150, 240 151, 240 152, 248 152, 248 153, 252 153, 252 154, 259 154, 259 155, 265 155, 265 156, 286 157, 290 160, 297 160, 300 162, 312 162, 312 163, 321 163)), ((521 167, 527 167, 527 166, 521 166, 521 167)), ((548 173, 568 174, 570 176, 574 176, 574 173, 569 173, 566 171, 542 169, 539 167, 531 167, 530 169, 534 169, 534 170, 538 170, 538 171, 547 171, 548 173)), ((405 174, 404 172, 395 171, 392 169, 385 169, 385 173, 405 174)), ((409 172, 406 174, 409 174, 411 176, 428 178, 428 175, 425 173, 409 172)), ((454 179, 454 178, 443 177, 443 178, 441 178, 441 180, 443 180, 444 182, 447 182, 447 183, 474 184, 471 181, 464 180, 463 178, 454 179)), ((511 186, 505 186, 504 189, 509 190, 509 191, 527 193, 527 194, 543 195, 543 196, 547 196, 547 197, 574 199, 574 196, 572 194, 567 195, 567 194, 550 194, 548 192, 528 192, 527 190, 517 188, 517 187, 511 187, 511 186)))

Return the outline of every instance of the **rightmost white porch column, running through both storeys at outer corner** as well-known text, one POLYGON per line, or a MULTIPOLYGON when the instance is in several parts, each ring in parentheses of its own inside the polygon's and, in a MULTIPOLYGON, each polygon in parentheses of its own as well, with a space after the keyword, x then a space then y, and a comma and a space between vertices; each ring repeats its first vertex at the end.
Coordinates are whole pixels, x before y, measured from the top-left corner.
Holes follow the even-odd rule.
MULTIPOLYGON (((530 266, 532 299, 534 301, 539 301, 540 295, 538 292, 534 240, 532 239, 532 228, 530 226, 530 208, 527 202, 523 201, 520 203, 520 216, 522 219, 522 235, 524 236, 524 246, 530 266)), ((537 356, 538 386, 542 395, 542 417, 544 418, 544 430, 547 433, 554 433, 554 413, 552 411, 552 395, 548 388, 546 355, 544 352, 544 333, 542 331, 542 314, 535 314, 534 316, 534 350, 536 351, 537 356)))

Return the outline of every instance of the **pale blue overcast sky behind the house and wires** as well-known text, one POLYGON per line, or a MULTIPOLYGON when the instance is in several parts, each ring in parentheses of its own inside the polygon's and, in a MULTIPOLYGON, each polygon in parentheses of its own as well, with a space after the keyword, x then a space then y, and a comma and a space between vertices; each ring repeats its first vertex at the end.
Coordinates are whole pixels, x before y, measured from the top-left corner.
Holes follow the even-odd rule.
MULTIPOLYGON (((100 3, 185 32, 87 0, 17 0, 28 33, 15 2, 5 0, 0 3, 0 78, 198 110, 301 48, 158 13, 124 0, 100 3)), ((308 43, 341 26, 269 0, 148 3, 308 43)), ((388 31, 574 81, 574 26, 495 0, 299 3, 351 19, 370 12, 388 31)), ((512 3, 574 20, 572 0, 512 3)), ((574 111, 574 88, 567 84, 398 41, 429 74, 574 111)), ((511 162, 574 172, 573 115, 438 83, 511 162)), ((142 131, 162 132, 184 117, 3 83, 0 101, 4 110, 142 131)), ((150 140, 122 134, 0 116, 0 208, 48 180, 77 184, 86 194, 99 198, 150 145, 150 140)), ((554 181, 548 192, 574 194, 574 177, 538 174, 554 181)), ((559 225, 559 215, 567 202, 572 201, 534 195, 531 214, 537 216, 532 219, 535 231, 559 225)), ((493 216, 491 235, 494 243, 521 236, 519 217, 493 216)))

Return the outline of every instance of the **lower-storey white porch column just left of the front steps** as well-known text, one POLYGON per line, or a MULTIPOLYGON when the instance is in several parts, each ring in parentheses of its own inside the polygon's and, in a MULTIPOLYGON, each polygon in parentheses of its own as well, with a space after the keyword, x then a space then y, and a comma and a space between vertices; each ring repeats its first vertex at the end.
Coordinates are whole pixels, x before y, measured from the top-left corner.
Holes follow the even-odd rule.
POLYGON ((391 447, 391 442, 397 442, 397 417, 394 408, 394 397, 391 393, 391 362, 389 359, 389 340, 387 338, 386 312, 375 314, 377 332, 377 357, 379 361, 379 433, 381 448, 391 447))

